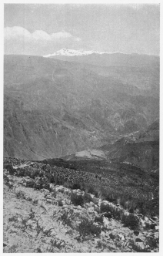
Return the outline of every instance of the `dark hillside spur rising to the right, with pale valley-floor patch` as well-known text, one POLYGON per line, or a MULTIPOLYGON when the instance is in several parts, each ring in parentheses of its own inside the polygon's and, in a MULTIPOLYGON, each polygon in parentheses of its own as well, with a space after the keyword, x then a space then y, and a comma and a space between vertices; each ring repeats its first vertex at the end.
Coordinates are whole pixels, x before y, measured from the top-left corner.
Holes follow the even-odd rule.
MULTIPOLYGON (((145 130, 130 133, 123 136, 115 143, 106 143, 101 147, 92 150, 83 150, 74 154, 62 157, 58 163, 73 164, 90 160, 108 161, 110 168, 117 166, 121 168, 125 165, 128 168, 141 168, 151 172, 159 168, 159 121, 156 120, 145 130), (65 162, 64 162, 65 161, 65 162)), ((47 163, 52 160, 46 160, 47 163)), ((56 160, 54 160, 56 161, 56 160)), ((91 163, 90 163, 91 165, 91 163)), ((80 168, 80 165, 77 164, 80 168)), ((133 170, 134 171, 134 170, 133 170)))

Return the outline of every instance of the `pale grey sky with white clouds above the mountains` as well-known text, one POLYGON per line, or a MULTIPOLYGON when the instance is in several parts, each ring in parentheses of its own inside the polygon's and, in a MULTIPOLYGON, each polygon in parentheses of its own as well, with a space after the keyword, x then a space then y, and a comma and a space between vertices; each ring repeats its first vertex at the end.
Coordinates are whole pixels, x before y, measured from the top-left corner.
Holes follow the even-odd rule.
POLYGON ((159 55, 160 6, 5 4, 5 54, 59 49, 159 55))

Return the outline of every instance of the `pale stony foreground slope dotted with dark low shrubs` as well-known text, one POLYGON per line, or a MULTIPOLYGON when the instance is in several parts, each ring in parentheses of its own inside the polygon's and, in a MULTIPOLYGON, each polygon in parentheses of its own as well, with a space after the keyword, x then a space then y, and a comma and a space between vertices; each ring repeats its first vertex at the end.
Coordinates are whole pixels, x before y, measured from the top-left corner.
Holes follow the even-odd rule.
MULTIPOLYGON (((75 170, 67 169, 61 185, 64 172, 48 164, 5 159, 4 252, 159 251, 157 216, 131 213, 100 194, 72 187, 75 170)), ((106 182, 95 173, 80 175, 89 185, 106 182)))

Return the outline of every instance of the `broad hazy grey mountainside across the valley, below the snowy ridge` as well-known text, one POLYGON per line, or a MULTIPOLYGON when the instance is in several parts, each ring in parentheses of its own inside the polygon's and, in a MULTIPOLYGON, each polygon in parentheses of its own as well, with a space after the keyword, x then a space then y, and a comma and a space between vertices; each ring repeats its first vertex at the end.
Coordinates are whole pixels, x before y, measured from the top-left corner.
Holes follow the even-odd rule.
POLYGON ((130 78, 120 78, 115 71, 104 74, 102 66, 5 56, 5 157, 62 157, 144 129, 159 114, 159 69, 155 57, 148 60, 141 76, 130 65, 125 67, 130 78))

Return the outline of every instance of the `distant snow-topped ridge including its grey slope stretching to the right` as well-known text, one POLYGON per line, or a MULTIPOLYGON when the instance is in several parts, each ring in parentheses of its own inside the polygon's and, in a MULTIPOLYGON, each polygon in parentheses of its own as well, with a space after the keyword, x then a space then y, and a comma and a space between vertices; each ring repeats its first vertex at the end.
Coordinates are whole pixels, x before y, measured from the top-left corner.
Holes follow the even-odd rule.
POLYGON ((128 66, 145 67, 159 66, 159 56, 124 52, 98 52, 75 49, 60 49, 57 52, 43 56, 46 59, 60 59, 68 62, 80 62, 95 66, 128 66))

